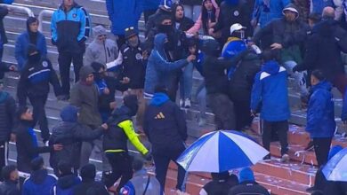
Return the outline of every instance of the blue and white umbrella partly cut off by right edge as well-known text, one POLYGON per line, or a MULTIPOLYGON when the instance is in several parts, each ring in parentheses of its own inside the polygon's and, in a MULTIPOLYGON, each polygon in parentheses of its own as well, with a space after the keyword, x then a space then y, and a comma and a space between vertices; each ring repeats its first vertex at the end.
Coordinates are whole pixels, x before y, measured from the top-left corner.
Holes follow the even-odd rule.
POLYGON ((337 152, 322 171, 328 181, 347 182, 347 148, 337 152))

